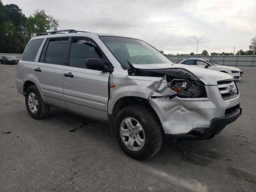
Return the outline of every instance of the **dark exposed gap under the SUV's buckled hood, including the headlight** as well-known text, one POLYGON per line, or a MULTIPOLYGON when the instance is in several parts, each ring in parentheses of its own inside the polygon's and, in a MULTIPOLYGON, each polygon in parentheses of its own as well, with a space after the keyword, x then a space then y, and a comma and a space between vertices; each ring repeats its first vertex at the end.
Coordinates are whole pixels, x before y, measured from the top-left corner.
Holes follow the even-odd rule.
MULTIPOLYGON (((204 98, 206 96, 206 90, 204 83, 200 81, 194 74, 183 68, 167 68, 167 69, 138 69, 131 68, 128 70, 130 76, 154 76, 162 77, 163 81, 166 81, 165 88, 170 88, 176 94, 170 95, 171 98, 178 96, 180 98, 204 98)), ((161 91, 160 84, 156 91, 161 91)), ((167 96, 167 95, 162 95, 167 96)), ((154 97, 154 96, 153 96, 154 97)))

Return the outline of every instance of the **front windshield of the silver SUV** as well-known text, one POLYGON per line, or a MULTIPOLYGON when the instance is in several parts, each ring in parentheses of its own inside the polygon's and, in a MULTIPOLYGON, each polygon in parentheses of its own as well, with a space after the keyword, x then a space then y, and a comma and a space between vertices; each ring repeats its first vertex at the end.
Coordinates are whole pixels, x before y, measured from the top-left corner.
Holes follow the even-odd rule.
POLYGON ((124 69, 130 69, 129 62, 131 64, 173 63, 142 40, 112 36, 100 36, 100 39, 124 69))

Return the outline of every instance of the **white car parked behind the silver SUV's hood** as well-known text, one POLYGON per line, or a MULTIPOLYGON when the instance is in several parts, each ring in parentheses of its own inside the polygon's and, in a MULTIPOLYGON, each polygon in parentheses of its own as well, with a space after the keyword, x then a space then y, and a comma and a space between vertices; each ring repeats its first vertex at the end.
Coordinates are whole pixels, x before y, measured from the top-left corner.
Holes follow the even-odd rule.
POLYGON ((230 74, 236 80, 240 80, 242 74, 244 74, 239 68, 220 65, 215 61, 209 59, 187 58, 180 62, 180 64, 194 65, 201 68, 207 68, 215 71, 224 72, 230 74))

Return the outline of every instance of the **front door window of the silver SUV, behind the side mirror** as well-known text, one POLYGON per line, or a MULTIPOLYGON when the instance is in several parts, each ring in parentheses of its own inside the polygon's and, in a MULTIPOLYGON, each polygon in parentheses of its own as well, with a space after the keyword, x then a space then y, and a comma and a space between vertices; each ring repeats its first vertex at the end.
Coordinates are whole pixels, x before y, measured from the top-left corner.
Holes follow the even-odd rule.
POLYGON ((102 53, 90 40, 73 38, 70 46, 70 66, 86 68, 85 61, 88 58, 102 59, 102 53))

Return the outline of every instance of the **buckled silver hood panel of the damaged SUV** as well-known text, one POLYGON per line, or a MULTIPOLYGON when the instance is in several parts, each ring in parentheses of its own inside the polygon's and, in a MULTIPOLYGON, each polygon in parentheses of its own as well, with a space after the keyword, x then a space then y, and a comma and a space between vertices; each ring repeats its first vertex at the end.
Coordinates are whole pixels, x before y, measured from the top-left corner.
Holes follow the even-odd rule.
POLYGON ((218 81, 233 79, 231 75, 209 70, 205 68, 199 68, 184 64, 132 64, 134 68, 138 69, 166 69, 166 68, 183 68, 192 72, 197 76, 205 85, 217 85, 218 81))

